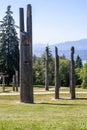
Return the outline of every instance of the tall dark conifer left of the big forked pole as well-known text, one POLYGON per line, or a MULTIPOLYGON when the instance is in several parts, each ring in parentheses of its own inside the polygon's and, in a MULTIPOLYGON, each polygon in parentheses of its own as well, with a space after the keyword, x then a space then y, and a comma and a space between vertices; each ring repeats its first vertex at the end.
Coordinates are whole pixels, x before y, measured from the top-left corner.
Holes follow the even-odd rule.
POLYGON ((9 5, 0 25, 0 72, 9 76, 8 84, 15 70, 19 70, 18 37, 12 14, 13 12, 9 5))

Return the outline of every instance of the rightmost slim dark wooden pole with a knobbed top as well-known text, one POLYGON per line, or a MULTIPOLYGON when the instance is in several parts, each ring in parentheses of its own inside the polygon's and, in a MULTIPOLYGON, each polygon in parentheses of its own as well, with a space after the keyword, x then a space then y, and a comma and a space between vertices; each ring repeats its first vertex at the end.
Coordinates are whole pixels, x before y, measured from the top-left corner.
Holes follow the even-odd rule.
POLYGON ((71 65, 70 65, 70 91, 71 99, 75 99, 75 71, 74 71, 74 47, 71 47, 71 65))

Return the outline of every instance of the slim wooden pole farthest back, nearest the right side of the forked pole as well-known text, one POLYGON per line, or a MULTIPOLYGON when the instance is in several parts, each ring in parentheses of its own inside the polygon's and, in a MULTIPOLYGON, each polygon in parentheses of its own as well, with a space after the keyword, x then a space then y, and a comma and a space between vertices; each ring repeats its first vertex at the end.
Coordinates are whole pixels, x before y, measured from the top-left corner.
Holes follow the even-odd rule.
POLYGON ((45 60, 45 90, 49 91, 49 66, 48 66, 49 49, 46 47, 46 60, 45 60))

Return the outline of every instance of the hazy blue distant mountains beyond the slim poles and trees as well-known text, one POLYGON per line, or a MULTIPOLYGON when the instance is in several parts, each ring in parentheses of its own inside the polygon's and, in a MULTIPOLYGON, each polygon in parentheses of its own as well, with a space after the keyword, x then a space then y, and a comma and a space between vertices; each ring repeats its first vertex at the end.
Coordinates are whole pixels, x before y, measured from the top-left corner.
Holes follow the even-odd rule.
MULTIPOLYGON (((36 56, 41 56, 45 52, 46 44, 34 44, 33 54, 36 56)), ((49 46, 53 56, 55 56, 55 46, 58 47, 59 56, 65 55, 66 58, 70 59, 71 47, 75 47, 75 58, 77 55, 81 57, 82 60, 87 60, 87 39, 81 39, 78 41, 67 41, 64 43, 52 44, 49 46)))

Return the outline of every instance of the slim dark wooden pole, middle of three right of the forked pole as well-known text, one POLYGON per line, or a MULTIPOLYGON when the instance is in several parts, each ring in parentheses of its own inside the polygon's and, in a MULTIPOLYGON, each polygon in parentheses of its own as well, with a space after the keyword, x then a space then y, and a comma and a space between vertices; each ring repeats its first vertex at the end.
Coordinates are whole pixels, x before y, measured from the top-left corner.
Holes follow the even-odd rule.
POLYGON ((59 56, 58 56, 58 49, 57 47, 55 47, 55 99, 59 98, 59 88, 60 88, 59 56))

